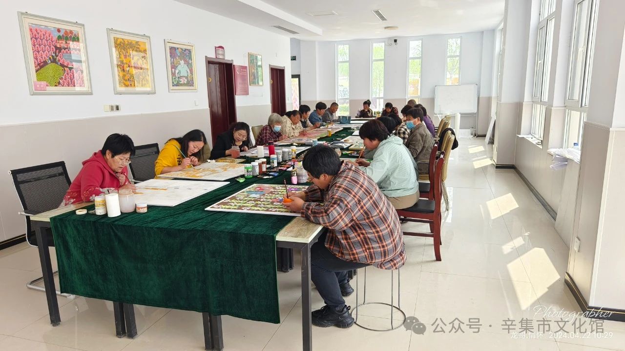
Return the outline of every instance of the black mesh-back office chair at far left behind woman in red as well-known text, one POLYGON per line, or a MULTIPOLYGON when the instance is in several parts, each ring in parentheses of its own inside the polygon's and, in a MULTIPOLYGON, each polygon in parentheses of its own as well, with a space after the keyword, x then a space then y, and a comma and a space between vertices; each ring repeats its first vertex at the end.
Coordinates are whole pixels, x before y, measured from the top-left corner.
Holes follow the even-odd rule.
MULTIPOLYGON (((37 247, 37 237, 31 226, 31 217, 29 215, 39 214, 48 210, 59 207, 65 194, 68 192, 69 180, 68 170, 65 162, 54 162, 51 164, 43 164, 41 166, 26 167, 9 171, 13 177, 13 184, 17 191, 17 196, 24 209, 26 217, 26 241, 31 246, 37 247)), ((54 246, 54 239, 51 229, 46 229, 43 235, 47 235, 50 246, 54 246)), ((58 270, 53 272, 58 274, 58 270)), ((46 291, 43 287, 35 284, 41 282, 43 277, 32 280, 26 287, 28 289, 46 291)), ((71 294, 61 294, 58 290, 57 295, 71 297, 71 294)))

